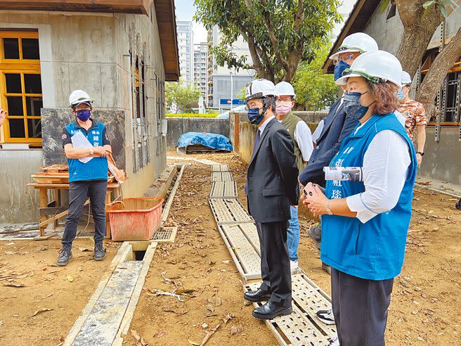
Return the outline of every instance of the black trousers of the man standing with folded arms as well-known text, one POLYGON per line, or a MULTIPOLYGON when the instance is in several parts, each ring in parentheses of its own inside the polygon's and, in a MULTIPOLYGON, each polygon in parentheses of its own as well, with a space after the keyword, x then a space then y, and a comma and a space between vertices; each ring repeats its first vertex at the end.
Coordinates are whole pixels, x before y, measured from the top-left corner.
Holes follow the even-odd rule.
POLYGON ((86 198, 90 198, 94 219, 94 243, 103 243, 105 236, 105 193, 107 180, 72 181, 69 183, 69 212, 65 218, 63 248, 70 250, 77 234, 86 198))

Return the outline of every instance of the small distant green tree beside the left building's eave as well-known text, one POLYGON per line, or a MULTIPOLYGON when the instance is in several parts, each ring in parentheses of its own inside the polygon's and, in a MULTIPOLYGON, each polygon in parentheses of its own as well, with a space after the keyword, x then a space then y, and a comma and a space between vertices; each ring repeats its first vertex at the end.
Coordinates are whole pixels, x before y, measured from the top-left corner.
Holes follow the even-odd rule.
POLYGON ((197 103, 200 98, 200 89, 193 85, 192 89, 180 79, 179 82, 168 82, 165 87, 165 98, 167 106, 176 105, 177 110, 190 110, 193 103, 197 103))

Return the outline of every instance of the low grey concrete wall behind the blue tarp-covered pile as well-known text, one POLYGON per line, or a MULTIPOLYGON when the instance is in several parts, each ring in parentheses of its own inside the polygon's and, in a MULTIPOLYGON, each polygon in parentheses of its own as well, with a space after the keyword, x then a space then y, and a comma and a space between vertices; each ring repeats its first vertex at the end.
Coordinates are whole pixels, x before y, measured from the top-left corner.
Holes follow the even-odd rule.
POLYGON ((169 117, 167 147, 176 148, 176 143, 186 132, 208 132, 229 137, 229 120, 206 117, 169 117))

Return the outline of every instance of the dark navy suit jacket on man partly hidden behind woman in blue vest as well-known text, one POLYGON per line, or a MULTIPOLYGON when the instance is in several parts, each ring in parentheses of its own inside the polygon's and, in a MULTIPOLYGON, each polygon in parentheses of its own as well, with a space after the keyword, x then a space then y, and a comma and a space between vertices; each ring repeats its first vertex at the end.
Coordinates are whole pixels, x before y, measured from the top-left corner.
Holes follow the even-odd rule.
POLYGON ((358 124, 357 119, 346 116, 344 102, 340 105, 341 99, 337 99, 332 104, 330 112, 325 117, 325 125, 322 133, 313 148, 311 158, 301 174, 299 181, 306 185, 309 181, 325 187, 325 172, 323 167, 330 165, 332 158, 335 157, 341 147, 341 142, 345 139, 358 124))

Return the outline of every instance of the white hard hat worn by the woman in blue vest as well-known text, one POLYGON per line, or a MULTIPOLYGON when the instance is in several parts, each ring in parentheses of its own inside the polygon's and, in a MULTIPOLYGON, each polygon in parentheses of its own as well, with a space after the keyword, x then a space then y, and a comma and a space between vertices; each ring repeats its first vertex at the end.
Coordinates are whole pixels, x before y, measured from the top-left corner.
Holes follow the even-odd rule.
POLYGON ((349 77, 363 77, 371 82, 392 82, 398 89, 402 88, 402 65, 398 58, 387 51, 374 51, 358 56, 344 71, 347 73, 336 81, 337 85, 344 85, 349 77))

